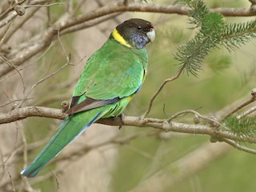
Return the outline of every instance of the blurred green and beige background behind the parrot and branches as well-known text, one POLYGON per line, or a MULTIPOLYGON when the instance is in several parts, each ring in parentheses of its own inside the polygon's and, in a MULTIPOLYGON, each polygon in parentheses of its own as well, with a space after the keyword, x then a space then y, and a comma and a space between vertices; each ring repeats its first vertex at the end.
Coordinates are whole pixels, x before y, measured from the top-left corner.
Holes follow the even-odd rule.
MULTIPOLYGON (((109 2, 111 1, 86 1, 79 11, 94 10, 109 2)), ((250 7, 249 1, 242 0, 204 2, 210 8, 250 7)), ((65 6, 50 6, 49 10, 52 22, 66 11, 65 6)), ((9 44, 28 41, 38 30, 45 29, 46 15, 46 9, 38 10, 33 16, 33 24, 31 21, 26 22, 10 39, 9 44)), ((86 60, 106 42, 115 26, 129 18, 149 20, 154 23, 156 31, 155 41, 147 46, 149 69, 146 81, 124 111, 125 115, 142 115, 161 83, 178 71, 178 62, 173 56, 175 50, 194 36, 187 16, 126 12, 99 25, 61 36, 63 47, 71 55, 74 66, 66 66, 58 74, 38 84, 30 94, 26 106, 61 108, 62 101, 70 100, 86 60)), ((246 22, 252 19, 254 18, 226 18, 226 21, 246 22)), ((223 47, 214 50, 207 56, 198 78, 184 73, 164 87, 156 98, 149 117, 167 118, 181 110, 197 109, 201 114, 218 115, 231 109, 234 103, 249 98, 250 91, 256 86, 255 46, 255 41, 252 41, 234 52, 223 47)), ((26 91, 65 63, 66 54, 60 41, 56 40, 47 50, 35 55, 25 64, 22 77, 26 91)), ((4 105, 5 103, 22 98, 22 81, 18 74, 13 74, 0 83, 0 111, 7 112, 12 105, 4 105)), ((176 121, 193 123, 193 116, 186 115, 176 121)), ((27 185, 39 191, 255 190, 254 154, 236 150, 222 142, 211 143, 210 137, 205 135, 170 132, 150 134, 157 130, 128 126, 119 130, 115 126, 100 124, 94 124, 67 146, 38 177, 22 179, 18 173, 24 166, 24 154, 22 150, 15 154, 14 151, 27 143, 33 149, 28 148, 27 162, 31 162, 60 123, 60 120, 50 118, 26 118, 0 126, 0 191, 13 191, 14 188, 25 191, 24 186, 27 185), (130 139, 123 145, 109 142, 97 146, 111 138, 125 138, 134 134, 141 134, 142 137, 130 139), (86 146, 96 147, 87 151, 86 146), (81 153, 72 157, 74 151, 81 153)))

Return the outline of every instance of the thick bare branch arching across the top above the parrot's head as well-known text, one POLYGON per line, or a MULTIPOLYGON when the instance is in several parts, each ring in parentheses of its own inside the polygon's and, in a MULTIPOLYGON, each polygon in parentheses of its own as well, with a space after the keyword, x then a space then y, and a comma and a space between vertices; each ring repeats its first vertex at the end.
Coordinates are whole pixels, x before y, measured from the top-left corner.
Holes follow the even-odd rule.
MULTIPOLYGON (((34 1, 31 2, 30 5, 34 5, 36 2, 46 2, 46 1, 34 1)), ((49 46, 54 38, 57 36, 57 31, 60 31, 62 34, 62 30, 68 30, 72 26, 76 26, 83 22, 88 22, 94 18, 101 18, 102 16, 124 12, 124 11, 140 11, 140 12, 152 12, 152 13, 162 13, 162 14, 187 14, 188 10, 186 7, 176 6, 176 5, 166 5, 166 4, 157 4, 157 3, 130 3, 127 6, 123 4, 123 1, 117 2, 114 4, 110 4, 107 6, 103 6, 97 10, 91 11, 87 14, 79 15, 76 18, 67 18, 62 22, 56 22, 46 31, 43 31, 42 34, 38 34, 36 38, 32 41, 26 42, 26 45, 23 45, 21 50, 17 50, 17 52, 13 52, 8 55, 10 62, 12 62, 15 66, 21 65, 23 62, 27 61, 27 59, 34 56, 34 54, 38 54, 39 51, 49 46)), ((233 8, 218 8, 212 9, 213 12, 219 12, 225 16, 253 16, 256 13, 250 12, 250 9, 233 9, 233 8)), ((11 14, 15 14, 13 17, 17 16, 16 12, 11 12, 11 14)), ((9 17, 11 14, 8 14, 9 17)), ((5 19, 7 19, 7 17, 5 19)), ((4 20, 5 20, 4 19, 4 20)), ((13 19, 13 18, 11 18, 13 19)), ((0 27, 6 25, 6 23, 10 22, 11 19, 8 21, 2 20, 0 22, 0 27)), ((3 66, 0 69, 0 77, 9 73, 13 70, 10 66, 3 66)), ((148 112, 146 112, 148 113, 148 112)), ((145 113, 145 114, 146 114, 145 113)))

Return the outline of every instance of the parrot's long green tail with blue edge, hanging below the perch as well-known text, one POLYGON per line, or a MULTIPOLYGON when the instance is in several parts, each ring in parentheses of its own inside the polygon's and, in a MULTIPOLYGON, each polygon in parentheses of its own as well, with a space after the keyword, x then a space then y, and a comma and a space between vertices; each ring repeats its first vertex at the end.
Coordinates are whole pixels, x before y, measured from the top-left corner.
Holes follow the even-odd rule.
POLYGON ((95 114, 94 117, 90 118, 89 122, 76 122, 72 116, 67 117, 64 122, 62 122, 61 126, 59 126, 57 133, 54 134, 40 154, 38 154, 29 166, 22 170, 22 176, 33 178, 37 175, 52 158, 57 156, 58 153, 75 138, 78 138, 78 136, 82 134, 88 126, 95 122, 101 114, 102 112, 95 114))

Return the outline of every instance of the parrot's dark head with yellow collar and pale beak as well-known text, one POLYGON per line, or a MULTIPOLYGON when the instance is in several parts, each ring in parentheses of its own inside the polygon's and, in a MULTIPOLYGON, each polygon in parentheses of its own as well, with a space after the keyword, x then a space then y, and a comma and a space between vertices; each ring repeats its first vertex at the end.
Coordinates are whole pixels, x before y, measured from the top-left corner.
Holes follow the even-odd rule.
POLYGON ((131 18, 117 26, 112 36, 124 46, 142 49, 146 43, 154 41, 155 33, 151 22, 131 18))

